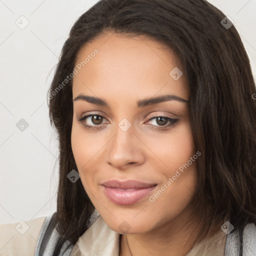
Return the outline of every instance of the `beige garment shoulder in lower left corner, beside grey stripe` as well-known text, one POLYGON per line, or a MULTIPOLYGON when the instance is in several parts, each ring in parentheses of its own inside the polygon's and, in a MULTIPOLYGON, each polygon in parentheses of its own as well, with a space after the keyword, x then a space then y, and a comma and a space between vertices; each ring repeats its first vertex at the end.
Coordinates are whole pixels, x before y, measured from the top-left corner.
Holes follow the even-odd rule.
POLYGON ((0 223, 0 256, 34 255, 41 228, 52 214, 16 223, 0 223))

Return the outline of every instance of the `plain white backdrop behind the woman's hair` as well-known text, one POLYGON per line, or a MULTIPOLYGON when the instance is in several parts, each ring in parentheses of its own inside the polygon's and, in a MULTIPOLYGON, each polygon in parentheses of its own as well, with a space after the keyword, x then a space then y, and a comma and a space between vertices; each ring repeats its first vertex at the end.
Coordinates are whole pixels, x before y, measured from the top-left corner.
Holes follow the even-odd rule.
MULTIPOLYGON (((72 24, 95 2, 0 0, 2 223, 30 220, 56 210, 58 150, 46 92, 72 24), (19 122, 23 130, 17 127, 19 122)), ((256 0, 209 2, 234 21, 255 77, 256 0)))

